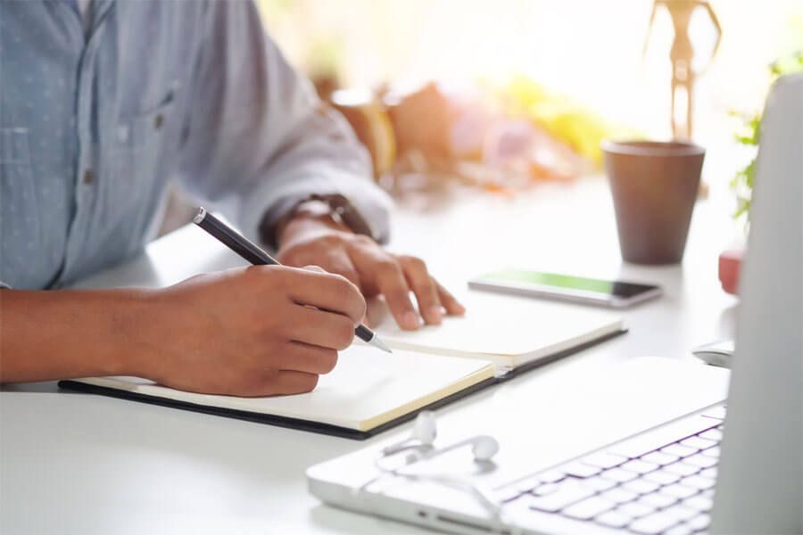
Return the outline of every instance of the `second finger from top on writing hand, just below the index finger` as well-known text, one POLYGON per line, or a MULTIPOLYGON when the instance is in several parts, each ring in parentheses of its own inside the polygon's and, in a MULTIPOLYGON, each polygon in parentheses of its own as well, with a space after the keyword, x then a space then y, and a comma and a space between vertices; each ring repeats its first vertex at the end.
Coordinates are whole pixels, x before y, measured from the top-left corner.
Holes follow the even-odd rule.
POLYGON ((287 317, 287 337, 329 350, 344 350, 354 340, 354 321, 351 317, 306 306, 294 307, 287 317))

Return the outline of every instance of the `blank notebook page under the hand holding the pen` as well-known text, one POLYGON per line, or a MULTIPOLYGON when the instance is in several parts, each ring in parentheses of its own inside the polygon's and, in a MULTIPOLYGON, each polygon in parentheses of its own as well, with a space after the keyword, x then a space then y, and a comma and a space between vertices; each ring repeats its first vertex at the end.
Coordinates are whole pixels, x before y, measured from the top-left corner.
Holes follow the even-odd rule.
POLYGON ((138 377, 80 379, 148 396, 253 413, 299 418, 368 431, 437 399, 493 377, 493 364, 396 351, 389 355, 362 343, 341 351, 335 369, 314 391, 293 396, 237 398, 177 391, 138 377))

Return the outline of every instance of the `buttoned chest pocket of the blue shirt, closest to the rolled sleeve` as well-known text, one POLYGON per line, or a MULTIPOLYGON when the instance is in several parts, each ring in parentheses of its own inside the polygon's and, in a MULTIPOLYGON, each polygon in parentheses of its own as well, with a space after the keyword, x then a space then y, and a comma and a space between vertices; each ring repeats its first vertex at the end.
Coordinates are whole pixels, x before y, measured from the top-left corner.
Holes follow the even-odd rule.
MULTIPOLYGON (((127 252, 137 251, 153 218, 170 175, 170 136, 174 127, 172 94, 153 109, 120 120, 106 160, 106 206, 125 218, 127 252)), ((121 220, 121 219, 120 219, 121 220)))

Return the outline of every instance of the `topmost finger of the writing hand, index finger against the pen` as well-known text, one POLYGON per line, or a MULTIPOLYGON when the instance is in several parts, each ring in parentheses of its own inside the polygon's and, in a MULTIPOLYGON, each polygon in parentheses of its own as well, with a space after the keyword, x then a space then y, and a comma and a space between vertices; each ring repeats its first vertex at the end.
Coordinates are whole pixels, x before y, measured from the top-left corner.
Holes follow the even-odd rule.
POLYGON ((358 325, 365 316, 365 298, 344 276, 319 270, 285 268, 284 285, 295 303, 342 314, 358 325))

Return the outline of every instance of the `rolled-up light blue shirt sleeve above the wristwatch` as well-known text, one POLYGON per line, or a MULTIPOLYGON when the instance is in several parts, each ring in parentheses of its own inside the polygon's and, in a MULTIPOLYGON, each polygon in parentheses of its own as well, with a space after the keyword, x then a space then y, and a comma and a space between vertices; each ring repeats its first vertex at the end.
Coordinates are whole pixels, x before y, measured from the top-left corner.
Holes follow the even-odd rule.
POLYGON ((318 99, 252 1, 211 2, 178 175, 188 193, 259 239, 312 195, 342 195, 385 242, 390 200, 345 119, 318 99))

